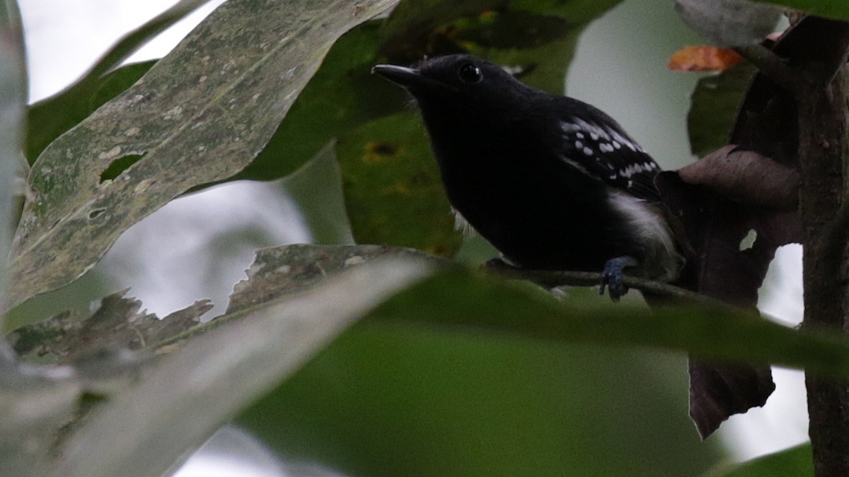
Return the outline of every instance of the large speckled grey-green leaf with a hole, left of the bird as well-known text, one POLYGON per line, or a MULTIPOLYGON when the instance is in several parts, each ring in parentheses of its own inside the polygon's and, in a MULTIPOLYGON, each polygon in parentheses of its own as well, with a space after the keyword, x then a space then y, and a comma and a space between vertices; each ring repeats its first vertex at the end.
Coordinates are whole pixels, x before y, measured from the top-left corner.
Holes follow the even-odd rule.
POLYGON ((7 306, 70 283, 133 223, 246 166, 336 38, 390 4, 231 0, 217 8, 39 157, 7 306))

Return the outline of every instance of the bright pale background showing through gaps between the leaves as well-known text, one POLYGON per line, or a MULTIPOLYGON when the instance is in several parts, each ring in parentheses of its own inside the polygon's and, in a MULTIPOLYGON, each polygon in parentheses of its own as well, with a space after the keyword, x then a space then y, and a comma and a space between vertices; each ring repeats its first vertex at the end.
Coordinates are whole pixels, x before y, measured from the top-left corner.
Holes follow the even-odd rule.
MULTIPOLYGON (((32 100, 55 93, 81 76, 125 31, 149 20, 173 3, 172 0, 19 1, 25 24, 32 100)), ((662 98, 658 99, 660 95, 667 94, 666 90, 672 87, 672 83, 680 82, 680 76, 673 78, 674 75, 660 71, 665 64, 656 65, 642 59, 637 64, 634 62, 633 50, 619 48, 618 43, 610 45, 610 38, 616 38, 621 43, 650 41, 652 35, 656 38, 653 32, 623 28, 629 22, 631 25, 638 23, 639 14, 652 1, 629 0, 588 29, 582 36, 576 59, 571 66, 569 93, 616 116, 659 160, 662 157, 689 158, 683 129, 688 107, 685 94, 682 93, 679 101, 673 101, 674 107, 678 109, 665 120, 669 121, 669 125, 664 126, 664 131, 668 132, 665 137, 658 137, 646 124, 644 108, 648 106, 639 103, 644 101, 656 104, 657 101, 663 101, 662 98), (631 32, 634 30, 638 31, 631 32), (650 76, 649 81, 645 80, 647 76, 650 76), (635 77, 640 78, 640 81, 633 81, 635 77), (599 78, 604 79, 602 87, 599 87, 599 78), (621 104, 628 101, 637 103, 632 104, 630 109, 621 109, 621 104)), ((162 56, 221 2, 214 0, 201 8, 136 53, 132 59, 162 56)), ((694 78, 686 81, 694 82, 694 78)), ((675 91, 678 90, 680 88, 675 91)), ((667 103, 668 100, 667 97, 667 103)), ((658 117, 651 118, 651 121, 664 120, 658 117)), ((204 296, 211 296, 219 304, 218 310, 222 310, 223 300, 226 300, 233 283, 244 276, 243 271, 250 264, 253 250, 261 246, 309 239, 310 234, 303 227, 297 210, 290 201, 279 195, 277 186, 239 183, 213 188, 167 205, 122 235, 97 269, 118 281, 132 283, 135 288, 131 295, 137 295, 149 310, 156 311, 160 316, 204 296), (264 204, 262 210, 250 206, 256 204, 257 200, 264 204), (269 204, 276 205, 267 206, 269 204), (175 223, 184 225, 188 220, 194 221, 192 227, 169 226, 175 223), (259 243, 242 244, 241 248, 232 250, 227 257, 199 258, 197 251, 209 247, 219 234, 240 227, 260 229, 266 239, 259 243), (144 278, 139 279, 141 276, 144 278), (184 286, 186 283, 205 285, 212 282, 217 284, 205 289, 184 286)), ((779 250, 779 260, 773 263, 767 283, 771 283, 773 289, 764 295, 762 309, 785 323, 798 323, 801 319, 800 247, 779 250)), ((767 402, 767 407, 732 418, 719 432, 722 441, 736 458, 775 452, 807 440, 803 377, 801 373, 781 369, 775 369, 774 373, 778 390, 767 402)), ((255 461, 263 460, 256 457, 263 454, 256 451, 256 442, 250 438, 240 440, 229 434, 227 437, 229 442, 241 442, 246 449, 250 449, 248 453, 255 461)), ((211 454, 221 455, 216 452, 211 454)), ((179 475, 211 475, 210 468, 205 467, 210 462, 193 460, 191 465, 197 465, 198 468, 183 469, 179 475)), ((215 475, 221 477, 282 474, 282 470, 273 465, 261 467, 254 473, 245 468, 222 473, 221 462, 216 460, 214 465, 217 469, 215 475)))

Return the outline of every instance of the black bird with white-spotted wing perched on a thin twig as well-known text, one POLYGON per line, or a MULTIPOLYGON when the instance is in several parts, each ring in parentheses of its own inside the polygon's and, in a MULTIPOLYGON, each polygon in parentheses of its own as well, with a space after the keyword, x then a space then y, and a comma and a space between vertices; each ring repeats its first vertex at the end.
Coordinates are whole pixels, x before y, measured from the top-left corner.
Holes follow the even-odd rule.
POLYGON ((683 266, 653 182, 655 160, 609 115, 528 87, 467 54, 372 70, 419 104, 454 210, 507 261, 661 281, 683 266))

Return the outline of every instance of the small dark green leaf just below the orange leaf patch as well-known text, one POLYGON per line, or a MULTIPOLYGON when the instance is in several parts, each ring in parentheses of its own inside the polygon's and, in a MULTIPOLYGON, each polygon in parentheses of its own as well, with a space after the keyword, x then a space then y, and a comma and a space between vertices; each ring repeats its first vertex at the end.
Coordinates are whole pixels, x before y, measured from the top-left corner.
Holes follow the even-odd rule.
POLYGON ((693 154, 703 157, 728 144, 740 101, 754 73, 754 66, 744 63, 696 83, 687 115, 693 154))

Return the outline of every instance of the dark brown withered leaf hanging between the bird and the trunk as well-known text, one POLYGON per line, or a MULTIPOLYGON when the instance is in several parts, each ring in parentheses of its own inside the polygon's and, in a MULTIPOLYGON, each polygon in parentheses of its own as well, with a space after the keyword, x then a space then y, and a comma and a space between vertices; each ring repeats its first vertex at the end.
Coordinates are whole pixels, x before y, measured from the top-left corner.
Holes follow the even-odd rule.
MULTIPOLYGON (((766 159, 756 162, 761 160, 766 159)), ((724 171, 713 178, 717 183, 733 185, 728 174, 724 171)), ((694 176, 710 177, 707 172, 694 176)), ((683 224, 686 240, 695 250, 676 284, 756 311, 757 289, 775 250, 798 239, 798 214, 741 204, 717 189, 684 182, 678 172, 661 173, 657 185, 666 207, 683 224), (751 245, 745 243, 750 235, 755 237, 751 245)), ((689 373, 690 417, 703 438, 732 414, 763 406, 775 389, 770 368, 762 363, 692 360, 689 373)))

